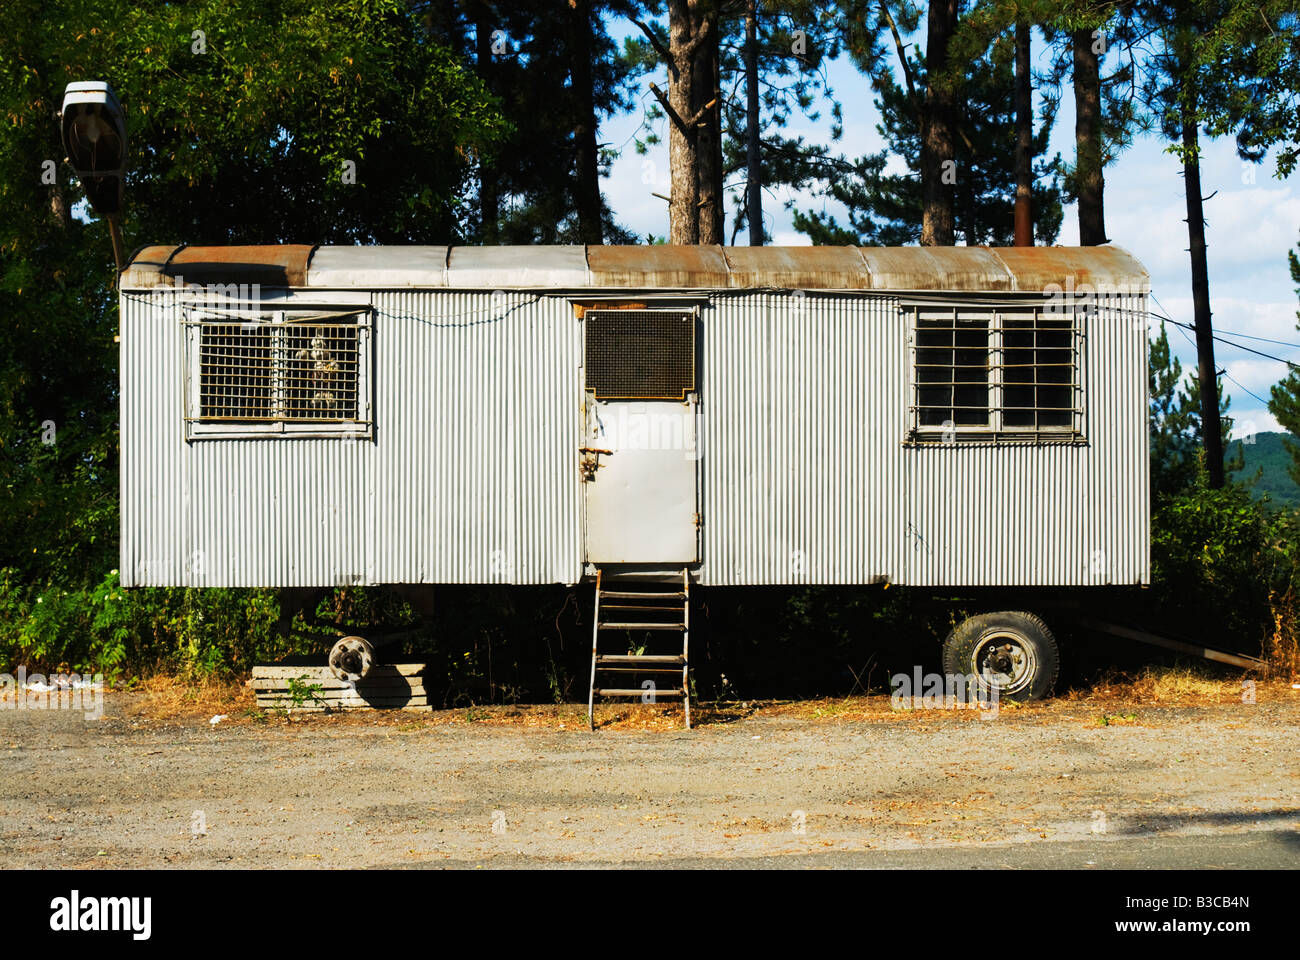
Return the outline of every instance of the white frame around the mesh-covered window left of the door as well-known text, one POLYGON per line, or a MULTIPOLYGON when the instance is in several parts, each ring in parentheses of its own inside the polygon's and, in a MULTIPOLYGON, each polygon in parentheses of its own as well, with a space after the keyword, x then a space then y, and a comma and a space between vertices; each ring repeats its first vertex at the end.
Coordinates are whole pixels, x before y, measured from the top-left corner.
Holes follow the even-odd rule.
MULTIPOLYGON (((186 310, 185 324, 185 438, 191 440, 251 440, 266 437, 335 437, 370 438, 374 436, 372 416, 373 377, 372 377, 372 308, 321 307, 304 303, 287 310, 230 310, 212 308, 186 310), (356 416, 339 420, 209 420, 203 418, 202 408, 202 369, 203 369, 203 330, 207 325, 259 324, 272 332, 273 363, 283 363, 285 330, 298 324, 344 324, 356 325, 356 416)), ((283 367, 273 368, 274 382, 283 389, 286 372, 283 367)))

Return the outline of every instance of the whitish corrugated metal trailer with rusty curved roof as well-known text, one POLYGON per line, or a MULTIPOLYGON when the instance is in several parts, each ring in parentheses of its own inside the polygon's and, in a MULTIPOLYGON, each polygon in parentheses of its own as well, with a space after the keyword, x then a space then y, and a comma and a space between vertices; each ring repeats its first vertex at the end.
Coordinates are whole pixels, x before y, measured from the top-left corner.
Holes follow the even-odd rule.
MULTIPOLYGON (((153 246, 120 287, 127 587, 598 579, 645 626, 604 594, 1149 579, 1114 246, 153 246)), ((1040 693, 1023 617, 949 649, 1040 693)))

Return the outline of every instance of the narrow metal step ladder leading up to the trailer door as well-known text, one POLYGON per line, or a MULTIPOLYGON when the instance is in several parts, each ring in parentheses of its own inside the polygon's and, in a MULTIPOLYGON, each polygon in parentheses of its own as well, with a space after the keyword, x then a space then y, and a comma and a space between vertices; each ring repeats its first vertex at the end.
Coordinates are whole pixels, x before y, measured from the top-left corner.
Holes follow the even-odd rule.
POLYGON ((595 730, 595 697, 636 697, 655 702, 681 697, 690 730, 690 576, 682 570, 667 578, 645 572, 595 572, 595 617, 592 622, 592 686, 586 723, 595 730), (646 653, 655 639, 681 633, 681 653, 646 653), (637 644, 642 645, 637 648, 637 644), (602 653, 618 650, 616 653, 602 653), (634 652, 640 649, 640 652, 634 652), (638 676, 646 679, 637 682, 638 676), (662 683, 656 678, 666 678, 662 683), (667 678, 672 678, 671 680, 667 678), (629 683, 630 680, 630 683, 629 683))

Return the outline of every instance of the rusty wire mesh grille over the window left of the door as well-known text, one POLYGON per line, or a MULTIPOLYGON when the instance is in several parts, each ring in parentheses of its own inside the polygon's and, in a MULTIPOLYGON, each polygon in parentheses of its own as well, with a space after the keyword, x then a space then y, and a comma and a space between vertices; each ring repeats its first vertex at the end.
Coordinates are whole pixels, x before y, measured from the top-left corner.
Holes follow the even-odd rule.
POLYGON ((204 323, 200 420, 355 420, 359 328, 320 323, 204 323))

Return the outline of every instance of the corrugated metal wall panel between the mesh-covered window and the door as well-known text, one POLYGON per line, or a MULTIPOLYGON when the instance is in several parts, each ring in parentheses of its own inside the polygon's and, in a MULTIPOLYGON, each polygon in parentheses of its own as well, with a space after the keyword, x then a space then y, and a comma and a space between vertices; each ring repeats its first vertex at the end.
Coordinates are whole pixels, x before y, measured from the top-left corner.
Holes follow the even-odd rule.
POLYGON ((370 579, 576 581, 582 353, 568 302, 385 293, 376 306, 370 579))

